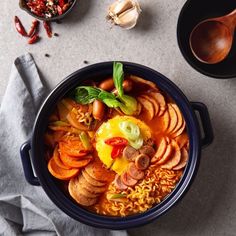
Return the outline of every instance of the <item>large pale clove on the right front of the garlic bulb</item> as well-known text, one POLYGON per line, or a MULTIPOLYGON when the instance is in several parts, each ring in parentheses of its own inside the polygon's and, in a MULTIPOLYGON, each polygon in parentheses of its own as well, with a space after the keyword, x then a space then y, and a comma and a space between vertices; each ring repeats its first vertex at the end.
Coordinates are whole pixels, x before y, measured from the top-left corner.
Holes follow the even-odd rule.
POLYGON ((138 17, 139 11, 136 7, 133 7, 115 17, 114 22, 125 29, 132 29, 137 24, 138 17))

